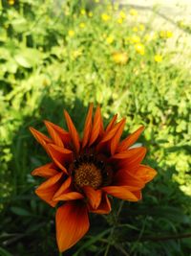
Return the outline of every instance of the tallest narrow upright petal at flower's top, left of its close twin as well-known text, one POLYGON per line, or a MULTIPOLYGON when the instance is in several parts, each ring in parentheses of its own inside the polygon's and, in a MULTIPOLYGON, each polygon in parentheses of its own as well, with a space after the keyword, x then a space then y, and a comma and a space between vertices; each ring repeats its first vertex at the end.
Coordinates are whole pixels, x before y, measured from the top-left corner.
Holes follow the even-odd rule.
POLYGON ((88 141, 91 135, 92 116, 93 116, 93 104, 91 104, 89 107, 88 114, 85 121, 84 134, 82 139, 82 149, 84 149, 84 147, 86 147, 86 145, 88 144, 88 141))

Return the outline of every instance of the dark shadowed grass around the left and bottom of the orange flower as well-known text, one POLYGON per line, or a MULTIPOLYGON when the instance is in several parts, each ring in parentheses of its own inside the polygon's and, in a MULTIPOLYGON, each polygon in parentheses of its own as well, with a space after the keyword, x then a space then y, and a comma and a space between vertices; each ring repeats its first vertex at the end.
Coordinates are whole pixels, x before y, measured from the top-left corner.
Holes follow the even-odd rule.
MULTIPOLYGON (((26 116, 15 132, 9 176, 12 193, 11 198, 4 201, 5 209, 1 215, 1 244, 11 255, 58 255, 54 230, 55 211, 34 195, 34 187, 41 180, 30 175, 34 168, 46 164, 48 158, 32 138, 29 127, 45 132, 42 123, 44 119, 65 126, 63 108, 71 114, 76 128, 82 130, 87 107, 77 98, 74 107, 71 107, 60 99, 56 101, 46 96, 38 106, 38 111, 26 116)), ((157 161, 147 163, 158 170, 157 161)), ((190 239, 181 242, 178 238, 161 239, 191 232, 191 220, 186 215, 185 207, 190 198, 172 181, 174 172, 174 166, 171 170, 159 170, 158 177, 143 190, 143 200, 138 203, 125 202, 117 218, 120 201, 112 198, 113 212, 107 217, 91 215, 91 229, 87 236, 64 255, 104 255, 108 244, 107 255, 110 256, 188 255, 190 245, 187 241, 190 242, 190 239)))

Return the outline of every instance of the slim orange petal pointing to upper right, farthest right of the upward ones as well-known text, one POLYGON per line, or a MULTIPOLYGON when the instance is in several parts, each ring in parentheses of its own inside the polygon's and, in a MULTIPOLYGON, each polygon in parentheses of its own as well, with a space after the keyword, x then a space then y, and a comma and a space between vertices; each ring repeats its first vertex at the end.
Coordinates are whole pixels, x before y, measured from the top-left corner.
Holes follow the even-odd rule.
POLYGON ((117 147, 117 152, 126 151, 129 147, 131 147, 137 140, 144 127, 138 128, 134 133, 130 134, 126 139, 121 141, 121 143, 117 147))

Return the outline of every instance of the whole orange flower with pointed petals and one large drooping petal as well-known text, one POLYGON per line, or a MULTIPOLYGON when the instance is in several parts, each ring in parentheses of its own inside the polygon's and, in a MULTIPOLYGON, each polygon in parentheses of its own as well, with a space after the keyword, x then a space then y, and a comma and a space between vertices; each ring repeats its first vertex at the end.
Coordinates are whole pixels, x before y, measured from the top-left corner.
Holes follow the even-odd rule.
POLYGON ((108 195, 129 201, 141 199, 141 189, 157 174, 140 164, 143 147, 131 148, 143 127, 120 142, 125 119, 117 123, 117 115, 104 128, 100 107, 90 105, 82 139, 67 111, 69 131, 45 121, 50 137, 30 128, 51 162, 33 170, 32 175, 46 178, 35 193, 51 206, 58 202, 55 215, 56 240, 59 251, 76 244, 89 229, 88 213, 108 214, 108 195), (93 119, 93 120, 92 120, 93 119))

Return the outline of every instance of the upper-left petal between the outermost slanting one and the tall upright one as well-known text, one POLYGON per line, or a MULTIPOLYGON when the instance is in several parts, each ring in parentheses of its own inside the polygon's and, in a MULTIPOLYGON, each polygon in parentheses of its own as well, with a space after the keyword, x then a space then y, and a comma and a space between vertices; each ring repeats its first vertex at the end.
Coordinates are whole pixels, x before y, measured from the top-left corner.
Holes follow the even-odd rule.
POLYGON ((49 131, 50 135, 52 136, 51 133, 53 133, 53 130, 54 130, 58 134, 58 136, 60 137, 61 141, 63 142, 64 147, 68 148, 70 143, 71 143, 70 133, 68 131, 66 131, 64 128, 60 128, 60 127, 54 125, 50 121, 46 120, 45 124, 46 124, 46 127, 48 128, 48 131, 49 131))

